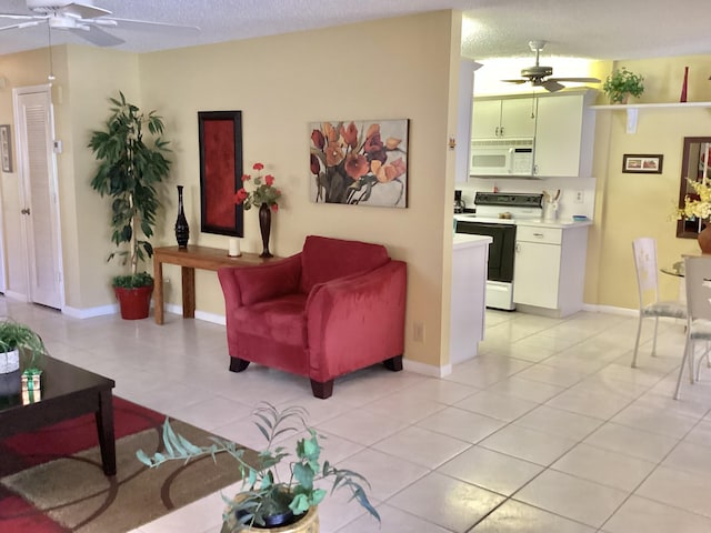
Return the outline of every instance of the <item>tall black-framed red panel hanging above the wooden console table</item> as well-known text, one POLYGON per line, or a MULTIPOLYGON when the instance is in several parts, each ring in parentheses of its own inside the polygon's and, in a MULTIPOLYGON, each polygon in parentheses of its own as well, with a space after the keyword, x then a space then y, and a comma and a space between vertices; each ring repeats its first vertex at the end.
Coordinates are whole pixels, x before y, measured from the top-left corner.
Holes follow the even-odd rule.
POLYGON ((242 112, 198 111, 200 231, 244 237, 242 205, 242 112))

